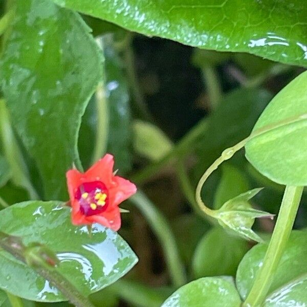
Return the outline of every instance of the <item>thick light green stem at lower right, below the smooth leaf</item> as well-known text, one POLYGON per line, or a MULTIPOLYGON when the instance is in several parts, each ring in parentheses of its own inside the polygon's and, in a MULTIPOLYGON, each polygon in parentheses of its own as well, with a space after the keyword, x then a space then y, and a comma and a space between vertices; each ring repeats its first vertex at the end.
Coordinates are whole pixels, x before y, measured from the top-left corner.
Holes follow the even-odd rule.
POLYGON ((280 258, 284 249, 286 248, 301 200, 302 192, 303 187, 286 186, 277 222, 263 261, 263 265, 257 273, 252 289, 247 299, 243 303, 243 306, 257 307, 265 300, 271 287, 280 258))

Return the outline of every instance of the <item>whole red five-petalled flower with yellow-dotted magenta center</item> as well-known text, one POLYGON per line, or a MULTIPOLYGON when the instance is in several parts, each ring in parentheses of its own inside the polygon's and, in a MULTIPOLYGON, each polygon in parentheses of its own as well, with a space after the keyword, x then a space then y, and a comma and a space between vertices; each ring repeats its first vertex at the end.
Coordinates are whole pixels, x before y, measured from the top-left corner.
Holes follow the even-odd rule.
POLYGON ((121 226, 118 205, 135 194, 130 181, 114 176, 114 159, 106 154, 85 173, 70 169, 66 173, 72 206, 72 223, 99 223, 117 231, 121 226))

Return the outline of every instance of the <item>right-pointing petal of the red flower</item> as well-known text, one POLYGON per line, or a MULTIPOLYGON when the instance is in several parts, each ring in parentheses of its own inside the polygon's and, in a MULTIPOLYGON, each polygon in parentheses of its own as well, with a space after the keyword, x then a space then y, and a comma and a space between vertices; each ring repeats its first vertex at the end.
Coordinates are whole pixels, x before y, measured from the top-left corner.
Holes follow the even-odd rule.
POLYGON ((111 196, 110 204, 118 206, 120 203, 128 199, 137 192, 135 184, 119 176, 113 177, 113 187, 109 189, 111 196))

